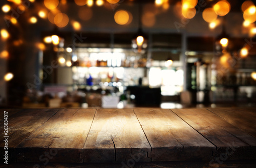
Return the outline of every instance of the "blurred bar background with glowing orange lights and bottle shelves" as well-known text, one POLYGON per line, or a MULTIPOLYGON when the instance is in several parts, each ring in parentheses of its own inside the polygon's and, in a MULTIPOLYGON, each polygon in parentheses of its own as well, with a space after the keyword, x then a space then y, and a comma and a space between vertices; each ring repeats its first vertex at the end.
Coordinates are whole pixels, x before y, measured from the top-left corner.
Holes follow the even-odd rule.
POLYGON ((253 1, 0 5, 1 108, 255 106, 253 1))

